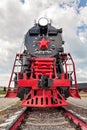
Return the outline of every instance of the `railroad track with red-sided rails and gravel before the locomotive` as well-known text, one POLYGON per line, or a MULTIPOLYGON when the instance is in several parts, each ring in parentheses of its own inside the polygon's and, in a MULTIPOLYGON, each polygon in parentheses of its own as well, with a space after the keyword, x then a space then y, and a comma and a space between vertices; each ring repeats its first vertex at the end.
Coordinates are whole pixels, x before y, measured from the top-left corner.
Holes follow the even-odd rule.
POLYGON ((0 125, 0 130, 87 130, 87 118, 63 108, 23 108, 0 125), (6 124, 7 123, 7 124, 6 124))

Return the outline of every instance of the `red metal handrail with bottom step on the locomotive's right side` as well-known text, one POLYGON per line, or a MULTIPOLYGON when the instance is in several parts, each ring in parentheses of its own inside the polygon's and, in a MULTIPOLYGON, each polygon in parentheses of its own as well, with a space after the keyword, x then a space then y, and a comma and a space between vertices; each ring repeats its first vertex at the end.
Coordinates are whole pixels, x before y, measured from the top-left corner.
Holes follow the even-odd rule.
POLYGON ((62 54, 62 59, 64 61, 64 65, 65 65, 66 77, 70 78, 69 75, 72 75, 72 79, 71 80, 72 80, 72 84, 74 85, 73 87, 69 88, 69 95, 71 97, 80 98, 78 85, 77 85, 77 80, 76 80, 76 72, 75 72, 74 61, 73 61, 70 53, 68 53, 68 54, 63 53, 62 54))

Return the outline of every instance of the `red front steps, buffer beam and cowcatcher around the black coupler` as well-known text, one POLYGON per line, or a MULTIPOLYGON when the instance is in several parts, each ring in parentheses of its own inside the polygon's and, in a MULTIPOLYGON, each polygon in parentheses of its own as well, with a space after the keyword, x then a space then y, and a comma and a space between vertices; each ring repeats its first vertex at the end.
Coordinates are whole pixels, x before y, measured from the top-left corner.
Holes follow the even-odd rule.
POLYGON ((65 80, 64 74, 61 74, 61 79, 58 80, 55 69, 55 58, 32 58, 31 61, 31 68, 33 69, 30 79, 24 74, 23 79, 18 80, 19 87, 32 87, 21 105, 27 107, 58 107, 68 105, 64 97, 57 90, 57 87, 69 87, 70 80, 65 80), (49 89, 44 90, 40 88, 38 84, 40 75, 53 79, 53 84, 49 89))

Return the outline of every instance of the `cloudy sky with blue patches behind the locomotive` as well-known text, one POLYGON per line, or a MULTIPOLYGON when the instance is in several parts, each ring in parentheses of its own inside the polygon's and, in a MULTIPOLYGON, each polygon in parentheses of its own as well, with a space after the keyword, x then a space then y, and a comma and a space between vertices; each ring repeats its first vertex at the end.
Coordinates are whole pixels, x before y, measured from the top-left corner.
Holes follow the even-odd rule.
POLYGON ((7 86, 24 35, 40 17, 63 28, 65 52, 70 52, 78 82, 87 81, 87 0, 0 1, 0 86, 7 86))

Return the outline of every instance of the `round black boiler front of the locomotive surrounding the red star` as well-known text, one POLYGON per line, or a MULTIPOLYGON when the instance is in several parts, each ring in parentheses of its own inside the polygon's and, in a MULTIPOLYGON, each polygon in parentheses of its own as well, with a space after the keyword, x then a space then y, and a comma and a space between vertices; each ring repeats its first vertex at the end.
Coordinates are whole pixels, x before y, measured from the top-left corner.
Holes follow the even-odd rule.
POLYGON ((63 52, 63 41, 62 41, 62 29, 56 29, 55 27, 48 24, 47 28, 41 28, 38 24, 29 29, 25 35, 25 46, 30 55, 35 57, 51 57, 55 56, 59 52, 63 52), (46 31, 47 29, 47 31, 46 31), (48 44, 48 50, 42 48, 39 50, 38 41, 42 38, 50 41, 48 44))

